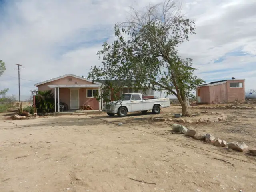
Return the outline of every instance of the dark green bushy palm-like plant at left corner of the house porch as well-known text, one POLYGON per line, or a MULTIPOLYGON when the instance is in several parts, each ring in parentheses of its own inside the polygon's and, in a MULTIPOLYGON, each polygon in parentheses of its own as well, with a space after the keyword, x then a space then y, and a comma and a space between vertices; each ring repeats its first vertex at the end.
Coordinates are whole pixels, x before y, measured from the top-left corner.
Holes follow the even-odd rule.
POLYGON ((54 94, 52 90, 38 91, 36 95, 36 109, 38 113, 48 113, 54 111, 54 94))

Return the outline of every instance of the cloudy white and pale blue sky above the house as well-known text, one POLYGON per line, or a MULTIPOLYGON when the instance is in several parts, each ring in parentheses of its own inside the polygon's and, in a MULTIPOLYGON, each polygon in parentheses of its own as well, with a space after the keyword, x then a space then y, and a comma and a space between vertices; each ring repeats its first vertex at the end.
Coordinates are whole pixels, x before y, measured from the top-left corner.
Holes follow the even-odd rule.
MULTIPOLYGON (((138 9, 160 0, 136 0, 138 9)), ((0 90, 30 95, 34 83, 72 73, 87 76, 100 65, 96 52, 113 39, 114 24, 126 20, 131 0, 0 0, 0 59, 7 70, 0 90)), ((194 59, 196 74, 209 81, 246 79, 256 89, 256 1, 182 0, 196 35, 179 48, 194 59)))

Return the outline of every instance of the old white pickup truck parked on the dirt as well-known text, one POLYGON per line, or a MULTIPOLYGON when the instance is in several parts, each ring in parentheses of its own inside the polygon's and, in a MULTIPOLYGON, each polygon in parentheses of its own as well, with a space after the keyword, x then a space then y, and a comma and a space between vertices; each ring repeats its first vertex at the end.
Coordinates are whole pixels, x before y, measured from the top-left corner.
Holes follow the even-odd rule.
POLYGON ((140 93, 125 93, 122 95, 122 100, 104 104, 102 111, 109 116, 118 114, 119 117, 125 117, 127 112, 137 111, 146 114, 148 110, 152 110, 154 114, 158 114, 161 108, 169 106, 169 98, 142 99, 142 94, 140 93))

